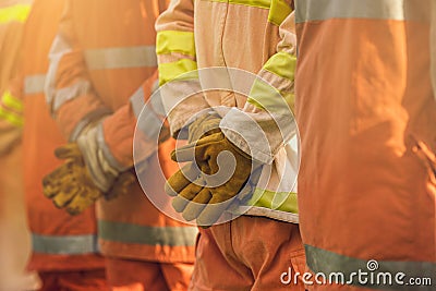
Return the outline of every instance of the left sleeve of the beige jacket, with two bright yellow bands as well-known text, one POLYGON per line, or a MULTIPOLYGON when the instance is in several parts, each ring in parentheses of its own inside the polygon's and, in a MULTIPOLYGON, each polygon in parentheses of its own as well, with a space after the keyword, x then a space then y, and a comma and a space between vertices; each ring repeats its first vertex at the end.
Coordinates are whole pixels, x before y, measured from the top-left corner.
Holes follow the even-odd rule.
POLYGON ((199 86, 194 40, 194 1, 173 0, 156 22, 159 85, 172 135, 202 109, 208 108, 202 95, 180 99, 199 86), (186 92, 184 92, 186 88, 186 92))

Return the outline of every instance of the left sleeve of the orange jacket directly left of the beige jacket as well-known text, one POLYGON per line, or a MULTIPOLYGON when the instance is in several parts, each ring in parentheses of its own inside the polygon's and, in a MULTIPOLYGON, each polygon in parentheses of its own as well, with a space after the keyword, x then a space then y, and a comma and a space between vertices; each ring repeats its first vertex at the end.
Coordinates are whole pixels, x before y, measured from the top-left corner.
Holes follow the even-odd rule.
POLYGON ((93 88, 83 50, 74 33, 70 0, 49 52, 45 93, 50 112, 65 137, 73 142, 94 120, 110 113, 93 88))

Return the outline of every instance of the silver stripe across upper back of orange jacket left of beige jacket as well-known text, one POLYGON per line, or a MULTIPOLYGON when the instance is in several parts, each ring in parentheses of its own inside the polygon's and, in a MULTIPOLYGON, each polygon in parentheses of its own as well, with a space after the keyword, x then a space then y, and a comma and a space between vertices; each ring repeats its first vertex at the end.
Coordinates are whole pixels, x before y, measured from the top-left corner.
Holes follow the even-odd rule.
POLYGON ((157 66, 156 47, 125 47, 85 50, 89 70, 157 66))

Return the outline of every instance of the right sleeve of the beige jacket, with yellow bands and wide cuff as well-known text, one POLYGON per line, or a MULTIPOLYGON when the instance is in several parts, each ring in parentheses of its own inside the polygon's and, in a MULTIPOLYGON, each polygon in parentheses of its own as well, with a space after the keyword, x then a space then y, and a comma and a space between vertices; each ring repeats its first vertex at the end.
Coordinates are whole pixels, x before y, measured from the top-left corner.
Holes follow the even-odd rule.
POLYGON ((278 150, 296 133, 292 113, 296 64, 292 7, 292 1, 288 1, 281 13, 274 15, 272 21, 280 23, 281 40, 276 53, 257 73, 244 109, 232 108, 220 124, 232 143, 264 163, 271 163, 278 150))

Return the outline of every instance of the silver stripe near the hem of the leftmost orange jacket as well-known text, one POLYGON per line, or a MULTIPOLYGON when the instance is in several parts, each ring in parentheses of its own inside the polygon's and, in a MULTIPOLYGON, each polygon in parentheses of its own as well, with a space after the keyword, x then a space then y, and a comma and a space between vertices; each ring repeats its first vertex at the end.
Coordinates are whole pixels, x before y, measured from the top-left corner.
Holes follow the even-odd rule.
POLYGON ((32 246, 35 253, 52 255, 81 255, 97 253, 96 235, 40 235, 32 234, 32 246))

